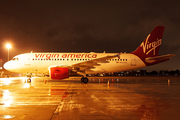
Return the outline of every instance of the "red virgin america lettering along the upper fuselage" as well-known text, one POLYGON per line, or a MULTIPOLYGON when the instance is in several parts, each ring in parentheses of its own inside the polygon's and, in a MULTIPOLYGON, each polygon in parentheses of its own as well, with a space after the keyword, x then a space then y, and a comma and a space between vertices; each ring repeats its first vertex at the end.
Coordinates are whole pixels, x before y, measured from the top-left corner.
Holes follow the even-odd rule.
POLYGON ((96 58, 97 54, 73 54, 73 53, 68 53, 68 54, 35 54, 36 58, 96 58))

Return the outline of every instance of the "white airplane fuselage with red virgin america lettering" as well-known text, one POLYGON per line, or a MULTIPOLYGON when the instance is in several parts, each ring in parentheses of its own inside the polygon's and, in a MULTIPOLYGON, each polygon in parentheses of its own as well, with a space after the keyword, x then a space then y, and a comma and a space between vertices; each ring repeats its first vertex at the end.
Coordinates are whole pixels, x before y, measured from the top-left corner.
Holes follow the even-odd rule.
MULTIPOLYGON (((49 73, 49 67, 70 67, 118 53, 25 53, 17 55, 4 64, 4 68, 18 73, 49 73)), ((134 54, 122 53, 119 57, 106 59, 87 69, 86 74, 120 72, 145 67, 144 62, 134 54)))

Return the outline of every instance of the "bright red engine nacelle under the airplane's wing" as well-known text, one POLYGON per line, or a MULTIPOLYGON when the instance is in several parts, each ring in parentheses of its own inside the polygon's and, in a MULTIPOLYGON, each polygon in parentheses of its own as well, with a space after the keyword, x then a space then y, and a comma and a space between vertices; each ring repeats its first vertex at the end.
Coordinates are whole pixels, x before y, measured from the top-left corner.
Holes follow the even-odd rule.
POLYGON ((69 77, 69 69, 61 67, 51 67, 49 70, 51 79, 59 80, 69 77))

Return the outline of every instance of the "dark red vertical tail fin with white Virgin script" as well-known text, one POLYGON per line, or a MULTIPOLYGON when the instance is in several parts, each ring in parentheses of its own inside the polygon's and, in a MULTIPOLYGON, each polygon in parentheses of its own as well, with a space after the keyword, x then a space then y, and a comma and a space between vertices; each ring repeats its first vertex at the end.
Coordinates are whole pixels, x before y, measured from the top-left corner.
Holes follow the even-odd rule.
POLYGON ((132 54, 137 55, 141 59, 158 56, 164 28, 164 26, 156 26, 154 30, 147 36, 147 38, 141 43, 141 45, 134 52, 132 52, 132 54))

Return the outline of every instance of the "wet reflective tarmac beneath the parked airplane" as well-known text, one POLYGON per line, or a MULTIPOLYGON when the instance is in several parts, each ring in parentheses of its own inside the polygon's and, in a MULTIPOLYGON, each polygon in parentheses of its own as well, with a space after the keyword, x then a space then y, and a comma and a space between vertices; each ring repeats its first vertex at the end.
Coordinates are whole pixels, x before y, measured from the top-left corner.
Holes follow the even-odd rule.
POLYGON ((180 119, 180 77, 79 79, 0 78, 0 120, 180 119))

